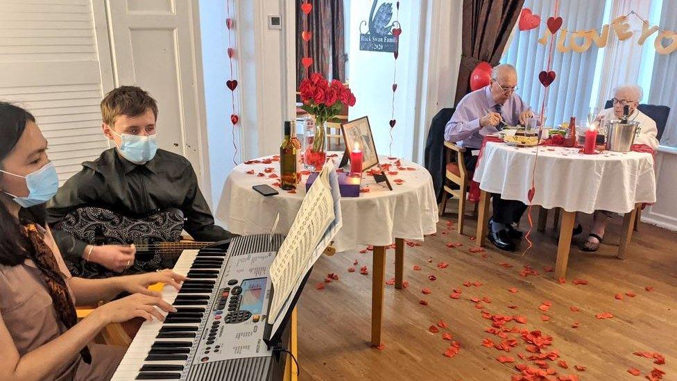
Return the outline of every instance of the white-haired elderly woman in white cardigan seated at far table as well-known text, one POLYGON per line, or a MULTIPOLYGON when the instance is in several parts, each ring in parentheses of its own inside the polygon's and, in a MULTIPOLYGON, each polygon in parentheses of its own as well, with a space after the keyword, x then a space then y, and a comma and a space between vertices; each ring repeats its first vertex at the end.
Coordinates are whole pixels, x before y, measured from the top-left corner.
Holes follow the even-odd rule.
MULTIPOLYGON (((602 110, 599 115, 595 118, 595 121, 601 125, 605 121, 618 120, 623 116, 624 106, 630 108, 630 117, 629 121, 636 121, 639 123, 640 134, 635 137, 635 144, 646 144, 646 146, 651 147, 653 151, 658 149, 658 128, 656 128, 655 121, 650 117, 647 117, 644 112, 637 110, 637 105, 640 104, 642 99, 642 87, 637 85, 624 85, 616 87, 614 90, 614 96, 612 99, 613 107, 602 110)), ((592 227, 590 228, 590 235, 588 240, 583 244, 581 250, 583 251, 597 251, 599 244, 602 242, 604 237, 604 230, 606 229, 606 222, 611 218, 611 213, 603 210, 594 212, 592 215, 592 227)), ((583 229, 577 227, 574 229, 574 234, 576 232, 581 232, 583 229)))

